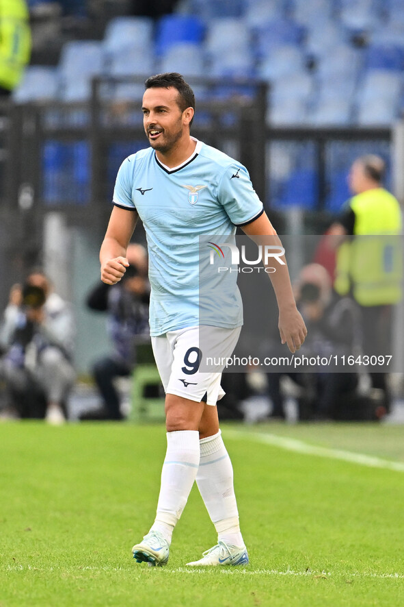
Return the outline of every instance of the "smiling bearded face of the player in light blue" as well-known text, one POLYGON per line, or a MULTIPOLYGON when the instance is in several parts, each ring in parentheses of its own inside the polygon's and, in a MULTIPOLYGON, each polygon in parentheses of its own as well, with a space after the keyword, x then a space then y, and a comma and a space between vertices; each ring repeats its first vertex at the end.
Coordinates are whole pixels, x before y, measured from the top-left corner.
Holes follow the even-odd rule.
POLYGON ((180 140, 189 137, 193 109, 180 109, 176 88, 148 88, 143 96, 142 112, 146 136, 156 151, 167 154, 180 140))

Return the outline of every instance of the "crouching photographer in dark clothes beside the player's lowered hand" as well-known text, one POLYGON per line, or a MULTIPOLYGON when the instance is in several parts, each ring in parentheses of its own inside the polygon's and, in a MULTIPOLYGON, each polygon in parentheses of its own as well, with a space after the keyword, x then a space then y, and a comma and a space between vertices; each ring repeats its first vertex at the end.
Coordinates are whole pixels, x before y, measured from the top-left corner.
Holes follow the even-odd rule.
MULTIPOLYGON (((358 306, 349 297, 339 297, 332 290, 329 273, 323 266, 312 263, 301 269, 295 297, 308 328, 301 356, 328 359, 330 355, 349 356, 358 351, 362 339, 358 306)), ((332 367, 315 371, 301 369, 299 373, 286 369, 280 373, 267 373, 269 397, 273 403, 271 417, 285 418, 280 382, 282 375, 288 375, 300 388, 297 398, 300 420, 347 419, 347 399, 352 400, 349 407, 355 406, 353 397, 358 386, 357 373, 337 373, 338 368, 332 367)), ((349 367, 349 370, 353 368, 349 367)))

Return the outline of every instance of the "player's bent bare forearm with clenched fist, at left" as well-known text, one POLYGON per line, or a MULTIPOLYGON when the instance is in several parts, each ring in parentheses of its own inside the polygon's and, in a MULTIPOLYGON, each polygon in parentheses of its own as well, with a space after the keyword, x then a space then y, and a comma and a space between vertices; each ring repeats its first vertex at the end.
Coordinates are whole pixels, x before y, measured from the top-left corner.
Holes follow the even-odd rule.
POLYGON ((101 280, 106 284, 119 282, 129 267, 126 249, 136 222, 136 211, 113 207, 100 249, 101 280))

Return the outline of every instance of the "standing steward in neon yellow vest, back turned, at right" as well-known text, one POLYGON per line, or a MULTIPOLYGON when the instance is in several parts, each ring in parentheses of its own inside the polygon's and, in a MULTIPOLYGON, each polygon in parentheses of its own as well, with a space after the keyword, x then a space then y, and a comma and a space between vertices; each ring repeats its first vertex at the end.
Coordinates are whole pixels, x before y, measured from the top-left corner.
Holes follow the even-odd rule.
MULTIPOLYGON (((336 256, 334 288, 340 295, 351 293, 362 312, 364 354, 392 354, 392 306, 401 299, 403 256, 401 253, 401 209, 399 202, 382 186, 385 164, 379 156, 361 156, 351 166, 349 200, 332 234, 345 239, 336 256)), ((386 395, 385 373, 370 373, 373 388, 386 395)))

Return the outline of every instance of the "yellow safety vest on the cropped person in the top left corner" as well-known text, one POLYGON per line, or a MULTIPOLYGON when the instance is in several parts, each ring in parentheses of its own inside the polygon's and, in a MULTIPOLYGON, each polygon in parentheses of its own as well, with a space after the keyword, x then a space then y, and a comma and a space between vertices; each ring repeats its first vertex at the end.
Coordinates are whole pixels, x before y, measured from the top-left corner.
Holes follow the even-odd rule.
POLYGON ((0 0, 0 86, 12 90, 31 56, 29 12, 25 0, 0 0))

